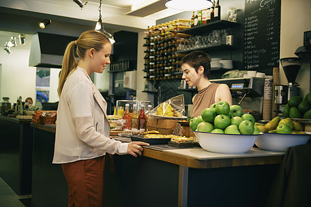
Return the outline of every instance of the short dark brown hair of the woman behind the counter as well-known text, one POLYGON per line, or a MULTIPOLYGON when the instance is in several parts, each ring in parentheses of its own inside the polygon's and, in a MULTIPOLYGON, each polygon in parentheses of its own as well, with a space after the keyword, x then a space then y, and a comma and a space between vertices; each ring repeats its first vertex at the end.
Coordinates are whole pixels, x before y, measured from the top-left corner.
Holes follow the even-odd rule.
POLYGON ((198 68, 202 66, 204 68, 203 76, 209 79, 211 77, 211 59, 207 53, 200 50, 190 52, 180 61, 180 66, 187 63, 198 72, 198 68))

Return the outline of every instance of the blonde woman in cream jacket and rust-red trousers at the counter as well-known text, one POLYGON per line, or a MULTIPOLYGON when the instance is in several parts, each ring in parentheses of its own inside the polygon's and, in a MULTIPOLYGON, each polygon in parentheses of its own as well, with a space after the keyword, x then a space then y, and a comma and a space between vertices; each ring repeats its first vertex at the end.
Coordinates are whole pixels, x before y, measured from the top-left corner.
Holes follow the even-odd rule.
POLYGON ((142 146, 148 145, 109 138, 107 103, 90 76, 104 71, 110 55, 109 39, 95 30, 71 41, 64 54, 53 164, 62 164, 68 183, 68 206, 103 206, 106 152, 137 157, 142 155, 142 146))

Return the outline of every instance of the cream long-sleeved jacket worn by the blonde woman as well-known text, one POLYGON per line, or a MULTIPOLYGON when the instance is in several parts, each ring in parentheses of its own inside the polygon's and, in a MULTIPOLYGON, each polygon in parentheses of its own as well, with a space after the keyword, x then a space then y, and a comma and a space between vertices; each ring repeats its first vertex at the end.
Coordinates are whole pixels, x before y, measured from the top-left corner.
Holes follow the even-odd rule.
POLYGON ((107 103, 85 70, 68 75, 57 109, 53 164, 111 154, 124 155, 129 144, 110 139, 107 103))

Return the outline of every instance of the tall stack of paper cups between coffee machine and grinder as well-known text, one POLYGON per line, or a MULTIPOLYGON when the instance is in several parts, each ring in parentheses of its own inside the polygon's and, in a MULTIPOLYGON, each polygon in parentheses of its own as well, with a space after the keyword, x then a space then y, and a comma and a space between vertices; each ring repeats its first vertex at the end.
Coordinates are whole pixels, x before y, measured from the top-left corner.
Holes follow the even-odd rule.
POLYGON ((263 120, 271 120, 272 111, 272 79, 265 79, 263 88, 263 120))

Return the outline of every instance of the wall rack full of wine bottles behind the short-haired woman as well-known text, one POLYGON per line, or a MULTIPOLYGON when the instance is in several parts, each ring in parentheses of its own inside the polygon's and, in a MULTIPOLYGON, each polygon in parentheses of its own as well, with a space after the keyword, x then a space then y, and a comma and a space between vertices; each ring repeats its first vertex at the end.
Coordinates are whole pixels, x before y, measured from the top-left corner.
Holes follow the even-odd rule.
POLYGON ((180 60, 184 54, 177 53, 176 47, 180 39, 189 38, 182 30, 190 28, 191 20, 177 19, 148 27, 144 39, 144 77, 148 81, 181 79, 180 60))

